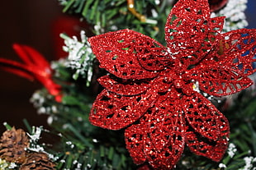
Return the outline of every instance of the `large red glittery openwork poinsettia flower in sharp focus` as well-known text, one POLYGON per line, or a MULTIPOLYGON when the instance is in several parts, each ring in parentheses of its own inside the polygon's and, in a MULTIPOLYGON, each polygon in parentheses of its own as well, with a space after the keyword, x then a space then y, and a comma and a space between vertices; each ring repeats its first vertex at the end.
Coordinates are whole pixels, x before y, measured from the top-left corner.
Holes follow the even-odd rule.
POLYGON ((225 17, 211 18, 207 0, 179 0, 165 27, 167 47, 133 30, 89 39, 105 88, 90 122, 126 128, 136 164, 170 169, 185 145, 220 161, 230 133, 226 117, 204 96, 234 94, 252 85, 256 30, 221 34, 225 17))

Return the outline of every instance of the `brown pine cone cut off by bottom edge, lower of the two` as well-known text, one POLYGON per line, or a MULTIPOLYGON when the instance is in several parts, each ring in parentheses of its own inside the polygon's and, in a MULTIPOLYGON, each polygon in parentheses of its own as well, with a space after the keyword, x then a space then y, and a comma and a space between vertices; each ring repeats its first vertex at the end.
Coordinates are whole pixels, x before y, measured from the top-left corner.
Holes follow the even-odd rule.
POLYGON ((55 163, 51 162, 47 154, 35 152, 28 155, 20 170, 54 170, 55 163))

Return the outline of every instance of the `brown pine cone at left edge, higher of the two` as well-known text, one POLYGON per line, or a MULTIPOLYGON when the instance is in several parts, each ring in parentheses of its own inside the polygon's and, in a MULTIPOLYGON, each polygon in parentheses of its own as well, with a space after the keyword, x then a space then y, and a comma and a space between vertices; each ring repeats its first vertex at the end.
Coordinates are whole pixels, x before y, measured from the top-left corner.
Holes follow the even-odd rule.
POLYGON ((29 139, 22 129, 7 130, 0 140, 0 159, 7 162, 23 163, 26 159, 25 149, 29 146, 29 139))

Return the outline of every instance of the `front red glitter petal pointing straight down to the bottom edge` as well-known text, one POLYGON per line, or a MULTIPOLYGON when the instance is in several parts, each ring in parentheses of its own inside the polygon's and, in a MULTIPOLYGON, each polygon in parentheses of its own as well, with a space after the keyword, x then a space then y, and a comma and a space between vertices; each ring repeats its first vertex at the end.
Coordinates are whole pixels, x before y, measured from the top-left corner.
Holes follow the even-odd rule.
POLYGON ((178 102, 174 101, 176 94, 169 92, 161 96, 148 115, 144 152, 155 169, 173 168, 183 154, 185 123, 182 110, 178 105, 173 105, 178 102))

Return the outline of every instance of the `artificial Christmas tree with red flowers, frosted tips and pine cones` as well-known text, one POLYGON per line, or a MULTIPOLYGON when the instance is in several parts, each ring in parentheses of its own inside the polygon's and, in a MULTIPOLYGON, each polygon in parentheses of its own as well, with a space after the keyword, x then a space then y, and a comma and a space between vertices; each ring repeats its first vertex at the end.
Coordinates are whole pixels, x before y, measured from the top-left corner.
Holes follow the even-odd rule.
POLYGON ((43 129, 26 122, 26 159, 13 166, 2 157, 0 166, 254 168, 255 96, 242 90, 253 84, 256 30, 241 29, 243 16, 221 16, 231 0, 59 2, 90 25, 81 39, 60 35, 67 57, 50 65, 16 44, 25 64, 0 58, 3 70, 45 86, 31 102, 49 115, 44 133, 59 140, 40 144, 43 129), (220 97, 238 92, 233 103, 242 102, 226 107, 230 98, 220 97))

